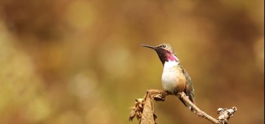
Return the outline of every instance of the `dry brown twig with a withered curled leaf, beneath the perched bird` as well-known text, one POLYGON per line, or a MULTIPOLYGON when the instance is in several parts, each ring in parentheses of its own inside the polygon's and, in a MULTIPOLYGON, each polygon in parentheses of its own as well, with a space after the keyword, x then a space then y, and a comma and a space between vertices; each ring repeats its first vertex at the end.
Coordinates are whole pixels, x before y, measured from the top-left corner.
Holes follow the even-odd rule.
MULTIPOLYGON (((132 121, 132 119, 136 116, 137 119, 140 119, 139 124, 155 124, 157 116, 154 113, 153 100, 164 101, 167 95, 172 94, 161 90, 148 90, 143 99, 136 99, 135 106, 131 107, 132 112, 130 114, 129 120, 132 121)), ((197 114, 199 117, 209 120, 214 124, 228 124, 230 117, 232 117, 234 112, 237 111, 236 107, 233 107, 232 109, 219 108, 217 110, 217 114, 220 116, 215 119, 196 107, 184 92, 178 93, 178 95, 181 99, 183 99, 184 102, 186 102, 187 105, 194 109, 195 114, 197 114)))

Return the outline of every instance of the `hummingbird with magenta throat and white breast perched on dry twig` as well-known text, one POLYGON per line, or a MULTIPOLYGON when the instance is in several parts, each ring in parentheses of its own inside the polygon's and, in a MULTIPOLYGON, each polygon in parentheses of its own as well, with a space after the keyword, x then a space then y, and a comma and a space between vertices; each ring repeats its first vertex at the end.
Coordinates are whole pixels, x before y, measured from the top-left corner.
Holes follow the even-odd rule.
MULTIPOLYGON (((164 66, 162 73, 162 86, 164 90, 176 96, 178 96, 179 92, 184 92, 189 97, 189 100, 195 104, 194 88, 192 86, 191 78, 180 64, 174 48, 169 43, 162 43, 155 47, 148 45, 141 46, 151 48, 157 52, 158 57, 164 66)), ((189 105, 186 105, 180 96, 179 100, 194 112, 189 105)))

